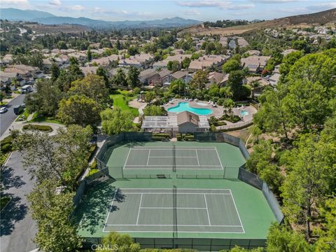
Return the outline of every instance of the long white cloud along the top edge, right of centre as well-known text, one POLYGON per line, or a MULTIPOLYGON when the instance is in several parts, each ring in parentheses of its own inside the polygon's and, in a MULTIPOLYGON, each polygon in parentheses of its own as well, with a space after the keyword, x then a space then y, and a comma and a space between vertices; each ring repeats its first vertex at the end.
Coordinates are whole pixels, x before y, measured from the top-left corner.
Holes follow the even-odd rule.
POLYGON ((231 1, 219 1, 219 0, 202 0, 202 1, 177 1, 179 6, 190 8, 221 8, 227 10, 244 10, 248 8, 254 8, 253 3, 247 4, 235 4, 231 1))

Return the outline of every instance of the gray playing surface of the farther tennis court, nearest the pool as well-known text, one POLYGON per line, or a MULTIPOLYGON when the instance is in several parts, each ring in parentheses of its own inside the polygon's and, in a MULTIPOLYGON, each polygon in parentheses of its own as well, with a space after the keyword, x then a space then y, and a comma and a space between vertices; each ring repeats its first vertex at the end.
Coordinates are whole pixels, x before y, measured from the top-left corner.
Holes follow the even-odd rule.
POLYGON ((137 146, 130 148, 124 169, 223 169, 216 147, 137 146))

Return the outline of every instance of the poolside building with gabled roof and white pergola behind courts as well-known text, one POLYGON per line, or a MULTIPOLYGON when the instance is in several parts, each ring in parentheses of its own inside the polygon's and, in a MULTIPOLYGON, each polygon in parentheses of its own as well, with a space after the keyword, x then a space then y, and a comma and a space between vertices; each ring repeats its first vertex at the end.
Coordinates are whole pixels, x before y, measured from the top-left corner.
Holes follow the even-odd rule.
POLYGON ((210 129, 207 116, 183 111, 176 116, 146 116, 141 125, 144 132, 169 133, 172 137, 177 133, 208 132, 210 129))

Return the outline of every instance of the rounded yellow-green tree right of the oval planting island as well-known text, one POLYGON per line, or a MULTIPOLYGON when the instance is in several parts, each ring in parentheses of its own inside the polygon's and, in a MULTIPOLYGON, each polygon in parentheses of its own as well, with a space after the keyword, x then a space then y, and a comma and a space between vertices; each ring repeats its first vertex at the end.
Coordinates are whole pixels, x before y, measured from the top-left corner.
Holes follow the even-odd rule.
POLYGON ((100 123, 101 106, 83 94, 76 94, 59 102, 57 117, 66 125, 91 125, 96 127, 100 123))

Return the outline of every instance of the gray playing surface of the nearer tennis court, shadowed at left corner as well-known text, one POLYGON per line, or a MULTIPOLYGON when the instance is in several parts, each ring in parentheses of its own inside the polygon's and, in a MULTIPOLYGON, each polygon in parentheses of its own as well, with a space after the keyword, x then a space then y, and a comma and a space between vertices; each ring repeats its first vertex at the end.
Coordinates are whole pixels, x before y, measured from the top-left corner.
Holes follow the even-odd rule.
POLYGON ((244 233, 232 193, 227 189, 119 189, 104 232, 244 233), (174 211, 176 221, 174 221, 174 211))

